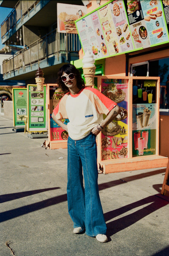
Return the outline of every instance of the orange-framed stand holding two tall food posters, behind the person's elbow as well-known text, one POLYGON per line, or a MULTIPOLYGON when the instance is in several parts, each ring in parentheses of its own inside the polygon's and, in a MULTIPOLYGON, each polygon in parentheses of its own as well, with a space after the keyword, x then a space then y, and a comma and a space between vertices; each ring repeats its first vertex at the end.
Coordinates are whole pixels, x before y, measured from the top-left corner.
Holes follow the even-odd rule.
POLYGON ((103 173, 166 167, 159 156, 159 77, 98 76, 98 89, 120 115, 98 135, 103 173))

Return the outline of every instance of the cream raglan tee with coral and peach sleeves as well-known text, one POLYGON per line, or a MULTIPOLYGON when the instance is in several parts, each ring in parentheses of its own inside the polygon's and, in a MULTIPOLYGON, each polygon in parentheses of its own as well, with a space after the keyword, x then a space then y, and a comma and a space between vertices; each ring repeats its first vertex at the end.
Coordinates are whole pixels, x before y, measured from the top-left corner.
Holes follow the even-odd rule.
POLYGON ((102 122, 117 103, 95 88, 82 88, 79 93, 66 93, 53 110, 57 120, 69 119, 68 134, 73 140, 86 137, 102 122))

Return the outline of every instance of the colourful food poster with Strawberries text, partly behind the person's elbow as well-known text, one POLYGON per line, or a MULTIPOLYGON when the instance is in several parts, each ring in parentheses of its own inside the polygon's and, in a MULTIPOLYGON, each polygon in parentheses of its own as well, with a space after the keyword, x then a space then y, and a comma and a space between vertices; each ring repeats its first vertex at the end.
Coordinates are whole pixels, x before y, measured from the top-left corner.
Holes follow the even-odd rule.
POLYGON ((101 92, 118 104, 120 114, 101 131, 101 159, 128 157, 128 80, 102 79, 101 92))

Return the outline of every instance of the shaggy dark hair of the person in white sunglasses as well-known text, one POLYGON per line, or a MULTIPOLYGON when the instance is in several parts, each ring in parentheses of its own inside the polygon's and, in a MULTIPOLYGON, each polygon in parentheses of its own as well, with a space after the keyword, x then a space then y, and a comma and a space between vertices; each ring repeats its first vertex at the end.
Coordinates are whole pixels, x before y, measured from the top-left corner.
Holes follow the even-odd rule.
POLYGON ((63 73, 66 73, 67 75, 69 75, 70 73, 73 73, 75 75, 76 81, 77 81, 77 87, 79 89, 82 89, 85 87, 84 84, 84 80, 81 77, 81 74, 79 72, 78 69, 76 69, 76 67, 73 64, 64 64, 58 71, 58 78, 57 78, 57 83, 58 85, 62 88, 63 92, 68 92, 69 89, 67 86, 65 86, 64 82, 62 81, 61 76, 63 75, 63 73))

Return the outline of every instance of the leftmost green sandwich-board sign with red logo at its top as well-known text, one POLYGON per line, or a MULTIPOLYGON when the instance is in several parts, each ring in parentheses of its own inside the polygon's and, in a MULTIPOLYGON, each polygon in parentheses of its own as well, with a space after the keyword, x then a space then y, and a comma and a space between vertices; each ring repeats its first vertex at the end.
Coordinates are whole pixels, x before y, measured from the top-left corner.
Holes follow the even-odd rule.
POLYGON ((25 118, 27 116, 27 89, 13 88, 13 111, 14 111, 14 127, 25 126, 25 118))

